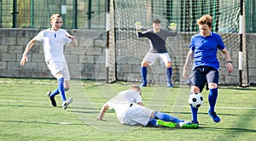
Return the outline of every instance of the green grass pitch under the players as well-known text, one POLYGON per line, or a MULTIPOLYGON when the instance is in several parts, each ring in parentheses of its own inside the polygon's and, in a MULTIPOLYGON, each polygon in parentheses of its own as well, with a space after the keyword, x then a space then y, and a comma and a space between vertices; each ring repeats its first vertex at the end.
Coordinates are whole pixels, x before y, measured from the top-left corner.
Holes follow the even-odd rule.
MULTIPOLYGON (((113 110, 105 121, 96 121, 102 104, 133 83, 72 80, 67 97, 73 104, 61 109, 49 104, 45 93, 57 86, 55 79, 0 78, 0 140, 254 140, 256 137, 256 88, 220 87, 216 111, 221 121, 207 116, 207 91, 199 109, 198 129, 131 127, 120 125, 113 110)), ((190 121, 189 87, 143 87, 143 102, 190 121)))

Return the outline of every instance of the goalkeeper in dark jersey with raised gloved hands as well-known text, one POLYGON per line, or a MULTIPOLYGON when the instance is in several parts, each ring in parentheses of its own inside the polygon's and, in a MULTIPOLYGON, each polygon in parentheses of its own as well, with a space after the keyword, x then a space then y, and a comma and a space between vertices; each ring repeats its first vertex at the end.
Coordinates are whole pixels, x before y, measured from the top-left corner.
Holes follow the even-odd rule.
POLYGON ((150 48, 145 55, 141 72, 143 77, 142 87, 147 87, 147 67, 148 65, 154 65, 156 59, 160 58, 166 65, 167 86, 172 86, 172 62, 166 49, 166 38, 174 37, 177 35, 176 25, 172 26, 172 32, 166 31, 160 28, 160 20, 154 19, 152 23, 153 29, 141 32, 141 25, 136 25, 137 37, 148 37, 150 42, 150 48))

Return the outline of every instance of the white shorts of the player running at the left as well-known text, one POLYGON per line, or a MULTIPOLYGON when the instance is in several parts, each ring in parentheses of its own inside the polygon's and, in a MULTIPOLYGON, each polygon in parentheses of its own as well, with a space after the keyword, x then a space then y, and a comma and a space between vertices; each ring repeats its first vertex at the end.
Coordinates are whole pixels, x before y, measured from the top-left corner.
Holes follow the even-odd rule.
POLYGON ((56 76, 56 74, 61 71, 61 75, 63 76, 64 80, 70 80, 66 59, 64 59, 63 62, 47 61, 46 65, 53 76, 56 76))

